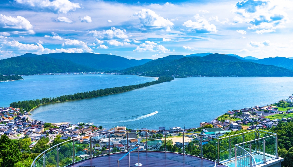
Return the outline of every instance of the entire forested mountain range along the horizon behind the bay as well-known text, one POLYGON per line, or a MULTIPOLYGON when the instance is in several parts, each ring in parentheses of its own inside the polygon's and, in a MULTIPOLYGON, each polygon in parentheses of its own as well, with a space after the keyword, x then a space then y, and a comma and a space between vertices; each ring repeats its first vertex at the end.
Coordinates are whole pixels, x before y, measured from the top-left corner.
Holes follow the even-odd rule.
POLYGON ((257 59, 252 56, 243 58, 235 54, 224 55, 217 53, 196 53, 186 56, 170 55, 157 60, 129 60, 120 56, 94 53, 50 53, 43 55, 26 53, 22 56, 0 60, 0 74, 29 75, 38 73, 101 72, 121 70, 123 73, 144 72, 147 75, 155 76, 167 73, 174 74, 178 68, 176 73, 179 72, 180 75, 193 74, 197 72, 202 75, 208 74, 212 76, 228 75, 229 73, 237 73, 239 76, 258 76, 258 74, 251 73, 252 71, 246 69, 245 67, 240 67, 242 65, 255 68, 255 71, 262 76, 291 76, 289 75, 291 71, 286 70, 293 70, 293 59, 285 57, 257 59), (178 65, 181 63, 182 65, 178 65), (188 67, 188 64, 190 64, 190 67, 188 67), (195 64, 198 65, 197 68, 193 66, 195 64), (220 71, 217 73, 208 72, 216 68, 208 66, 208 64, 217 66, 217 70, 220 71), (273 66, 259 66, 259 64, 273 66), (176 66, 174 67, 176 70, 173 71, 173 67, 169 69, 171 66, 176 66), (186 69, 183 69, 183 66, 186 69), (276 68, 283 71, 283 75, 273 72, 277 66, 287 68, 276 68), (166 71, 164 70, 164 72, 162 72, 161 70, 163 70, 163 67, 168 67, 168 69, 165 69, 166 71), (190 69, 187 69, 187 67, 190 69), (219 69, 220 67, 222 70, 219 69), (235 70, 224 70, 226 67, 233 67, 235 70), (260 72, 260 70, 266 71, 268 69, 272 70, 272 72, 267 72, 266 74, 260 72))

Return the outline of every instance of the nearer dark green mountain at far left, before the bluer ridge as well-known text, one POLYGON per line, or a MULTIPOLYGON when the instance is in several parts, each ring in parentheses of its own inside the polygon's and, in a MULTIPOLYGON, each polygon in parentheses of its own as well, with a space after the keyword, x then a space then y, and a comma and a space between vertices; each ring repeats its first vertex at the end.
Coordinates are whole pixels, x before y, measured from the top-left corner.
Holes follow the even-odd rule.
POLYGON ((73 63, 70 60, 47 56, 12 57, 0 60, 0 74, 31 75, 38 73, 94 72, 96 69, 73 63))

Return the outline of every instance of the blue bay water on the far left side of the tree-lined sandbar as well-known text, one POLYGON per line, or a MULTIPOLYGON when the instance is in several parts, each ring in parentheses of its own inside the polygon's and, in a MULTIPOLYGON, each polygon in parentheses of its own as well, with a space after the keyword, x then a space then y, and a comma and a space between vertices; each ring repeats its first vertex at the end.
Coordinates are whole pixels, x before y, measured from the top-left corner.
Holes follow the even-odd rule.
POLYGON ((156 80, 136 75, 38 75, 0 83, 0 107, 14 101, 56 97, 65 94, 136 85, 156 80))

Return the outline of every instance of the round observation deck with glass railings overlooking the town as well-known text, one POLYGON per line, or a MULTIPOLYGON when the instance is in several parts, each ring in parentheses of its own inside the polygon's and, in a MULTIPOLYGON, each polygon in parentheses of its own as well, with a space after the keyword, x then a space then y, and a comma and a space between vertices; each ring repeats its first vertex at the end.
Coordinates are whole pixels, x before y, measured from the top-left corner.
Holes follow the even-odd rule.
POLYGON ((104 131, 55 145, 31 167, 277 167, 284 160, 277 140, 261 130, 222 138, 175 130, 104 131))

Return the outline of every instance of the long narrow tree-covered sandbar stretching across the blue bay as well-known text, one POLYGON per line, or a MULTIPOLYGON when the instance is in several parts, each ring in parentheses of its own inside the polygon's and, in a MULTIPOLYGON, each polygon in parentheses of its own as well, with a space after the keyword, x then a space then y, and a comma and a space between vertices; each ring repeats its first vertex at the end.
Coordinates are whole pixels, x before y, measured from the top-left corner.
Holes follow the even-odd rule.
POLYGON ((141 87, 147 87, 150 85, 163 83, 166 81, 171 81, 173 79, 174 78, 170 76, 161 76, 156 81, 147 82, 144 84, 106 88, 106 89, 93 90, 93 91, 81 92, 81 93, 70 94, 70 95, 63 95, 60 97, 53 97, 53 98, 50 97, 50 98, 42 98, 42 99, 36 99, 36 100, 30 100, 30 101, 18 101, 18 102, 11 103, 10 107, 23 108, 28 111, 40 104, 53 103, 57 101, 84 99, 84 98, 90 98, 90 97, 99 97, 99 96, 104 96, 108 94, 116 94, 116 93, 126 92, 129 90, 133 90, 133 89, 137 89, 141 87))

